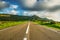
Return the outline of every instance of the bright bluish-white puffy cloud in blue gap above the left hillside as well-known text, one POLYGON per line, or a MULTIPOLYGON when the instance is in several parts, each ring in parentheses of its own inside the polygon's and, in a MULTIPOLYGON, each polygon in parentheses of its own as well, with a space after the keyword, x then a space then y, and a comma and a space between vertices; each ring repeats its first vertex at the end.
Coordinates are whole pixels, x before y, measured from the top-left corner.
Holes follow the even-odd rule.
POLYGON ((2 9, 2 13, 17 15, 19 13, 18 5, 10 4, 9 7, 2 9))

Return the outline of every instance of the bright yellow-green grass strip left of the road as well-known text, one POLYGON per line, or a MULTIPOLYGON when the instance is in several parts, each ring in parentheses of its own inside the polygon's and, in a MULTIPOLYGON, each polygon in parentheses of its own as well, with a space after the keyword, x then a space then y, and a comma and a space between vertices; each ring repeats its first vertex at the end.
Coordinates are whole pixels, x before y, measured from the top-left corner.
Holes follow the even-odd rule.
POLYGON ((25 21, 0 21, 0 30, 8 27, 12 27, 18 24, 22 24, 25 21))

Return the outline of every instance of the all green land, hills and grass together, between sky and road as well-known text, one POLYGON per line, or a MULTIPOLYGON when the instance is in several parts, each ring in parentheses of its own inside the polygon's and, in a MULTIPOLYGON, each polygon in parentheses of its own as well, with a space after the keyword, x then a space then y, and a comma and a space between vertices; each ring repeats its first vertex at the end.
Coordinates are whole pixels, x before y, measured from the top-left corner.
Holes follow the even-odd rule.
POLYGON ((0 29, 11 27, 21 24, 24 21, 33 21, 34 23, 45 25, 50 28, 60 29, 60 22, 49 20, 47 18, 40 18, 36 15, 33 16, 19 16, 10 14, 0 14, 0 29))

